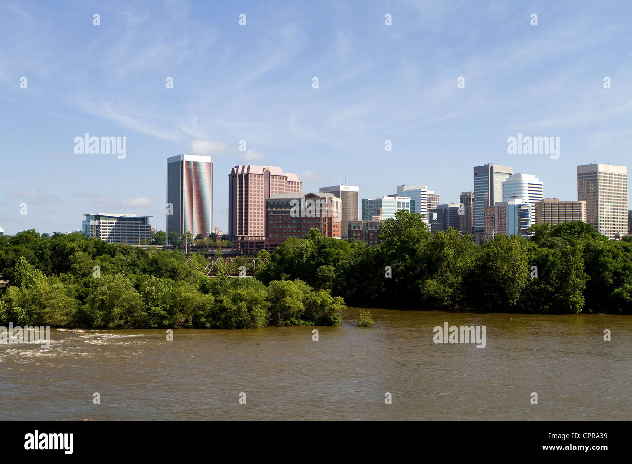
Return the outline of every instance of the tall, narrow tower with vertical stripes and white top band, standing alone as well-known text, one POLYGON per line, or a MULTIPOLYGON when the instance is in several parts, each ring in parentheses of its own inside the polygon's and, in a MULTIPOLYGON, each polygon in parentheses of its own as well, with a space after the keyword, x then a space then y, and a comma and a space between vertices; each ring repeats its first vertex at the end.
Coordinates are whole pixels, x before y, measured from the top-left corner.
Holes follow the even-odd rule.
POLYGON ((213 229, 213 158, 167 158, 167 234, 208 237, 213 229))

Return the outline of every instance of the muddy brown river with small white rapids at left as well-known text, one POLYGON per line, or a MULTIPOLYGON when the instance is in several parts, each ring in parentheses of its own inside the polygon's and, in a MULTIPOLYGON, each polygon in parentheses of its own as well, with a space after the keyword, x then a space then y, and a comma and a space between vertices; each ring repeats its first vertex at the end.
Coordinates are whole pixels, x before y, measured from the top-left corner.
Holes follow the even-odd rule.
POLYGON ((3 419, 632 419, 632 316, 370 311, 374 328, 349 308, 318 341, 311 326, 171 342, 53 328, 49 348, 0 344, 3 419), (446 322, 485 326, 485 348, 434 343, 446 322))

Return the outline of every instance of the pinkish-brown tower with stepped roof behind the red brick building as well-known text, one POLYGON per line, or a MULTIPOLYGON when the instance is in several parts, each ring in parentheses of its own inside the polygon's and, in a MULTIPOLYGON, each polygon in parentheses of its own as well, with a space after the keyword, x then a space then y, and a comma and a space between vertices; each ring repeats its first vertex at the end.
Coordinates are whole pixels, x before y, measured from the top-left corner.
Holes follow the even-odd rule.
POLYGON ((300 193, 302 190, 303 182, 298 176, 283 172, 280 167, 235 166, 228 175, 228 235, 231 240, 265 240, 265 200, 277 193, 300 193))

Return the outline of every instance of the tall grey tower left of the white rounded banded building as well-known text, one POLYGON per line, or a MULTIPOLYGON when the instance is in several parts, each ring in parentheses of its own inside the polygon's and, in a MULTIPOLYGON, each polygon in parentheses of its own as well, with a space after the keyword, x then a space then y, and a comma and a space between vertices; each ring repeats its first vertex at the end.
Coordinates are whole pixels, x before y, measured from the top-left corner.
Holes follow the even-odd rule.
POLYGON ((474 232, 485 229, 485 206, 502 201, 502 182, 513 174, 513 167, 485 164, 474 167, 474 232))

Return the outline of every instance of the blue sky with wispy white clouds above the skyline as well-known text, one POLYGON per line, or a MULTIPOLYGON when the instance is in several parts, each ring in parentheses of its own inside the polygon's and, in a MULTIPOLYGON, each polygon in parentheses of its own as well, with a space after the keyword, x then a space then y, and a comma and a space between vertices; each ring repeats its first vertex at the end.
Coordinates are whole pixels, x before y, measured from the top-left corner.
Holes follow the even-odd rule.
POLYGON ((459 203, 491 162, 577 199, 576 165, 632 159, 631 13, 627 0, 2 1, 0 227, 68 232, 108 212, 165 229, 166 160, 181 153, 214 157, 224 231, 238 164, 279 166, 305 192, 422 184, 459 203), (75 153, 85 133, 125 137, 125 158, 75 153), (559 158, 507 153, 518 133, 559 137, 559 158))

